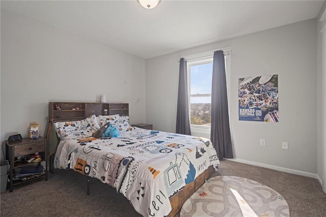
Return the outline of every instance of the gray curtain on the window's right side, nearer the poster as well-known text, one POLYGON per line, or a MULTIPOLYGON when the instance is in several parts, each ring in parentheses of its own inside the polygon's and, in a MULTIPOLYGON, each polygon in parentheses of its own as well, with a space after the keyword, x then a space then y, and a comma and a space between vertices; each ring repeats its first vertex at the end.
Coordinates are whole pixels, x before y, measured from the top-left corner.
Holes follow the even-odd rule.
POLYGON ((210 140, 220 159, 233 158, 229 124, 225 62, 222 50, 214 52, 210 140))

